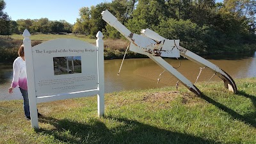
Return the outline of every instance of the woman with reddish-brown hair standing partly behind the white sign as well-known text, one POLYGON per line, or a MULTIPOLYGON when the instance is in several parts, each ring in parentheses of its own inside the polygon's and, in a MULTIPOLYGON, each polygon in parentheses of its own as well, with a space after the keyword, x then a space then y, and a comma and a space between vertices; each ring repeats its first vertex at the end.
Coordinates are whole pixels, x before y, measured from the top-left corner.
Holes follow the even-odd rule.
MULTIPOLYGON (((13 79, 12 86, 9 88, 9 93, 13 93, 13 88, 19 86, 20 92, 23 97, 23 106, 24 113, 27 120, 30 120, 30 111, 29 111, 29 100, 28 100, 28 85, 27 85, 27 73, 26 73, 26 63, 24 55, 24 45, 20 45, 18 51, 19 57, 16 58, 13 62, 13 79)), ((38 113, 38 116, 41 116, 38 113)))

